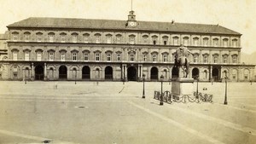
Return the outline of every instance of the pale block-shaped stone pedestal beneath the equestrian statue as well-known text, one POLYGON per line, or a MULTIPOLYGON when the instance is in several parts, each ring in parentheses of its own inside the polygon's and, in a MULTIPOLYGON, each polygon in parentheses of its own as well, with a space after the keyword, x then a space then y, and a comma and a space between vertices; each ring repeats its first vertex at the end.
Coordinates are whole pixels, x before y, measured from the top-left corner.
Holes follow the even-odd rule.
POLYGON ((193 78, 175 78, 172 79, 172 95, 193 95, 193 78))

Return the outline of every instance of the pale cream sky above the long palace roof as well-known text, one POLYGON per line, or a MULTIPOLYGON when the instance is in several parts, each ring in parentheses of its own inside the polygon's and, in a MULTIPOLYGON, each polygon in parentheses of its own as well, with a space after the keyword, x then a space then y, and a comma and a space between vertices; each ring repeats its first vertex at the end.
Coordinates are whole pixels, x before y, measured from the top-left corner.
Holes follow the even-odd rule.
MULTIPOLYGON (((256 51, 256 0, 133 0, 137 20, 213 24, 240 32, 241 51, 256 51)), ((28 17, 127 20, 131 0, 0 0, 0 33, 28 17)))

